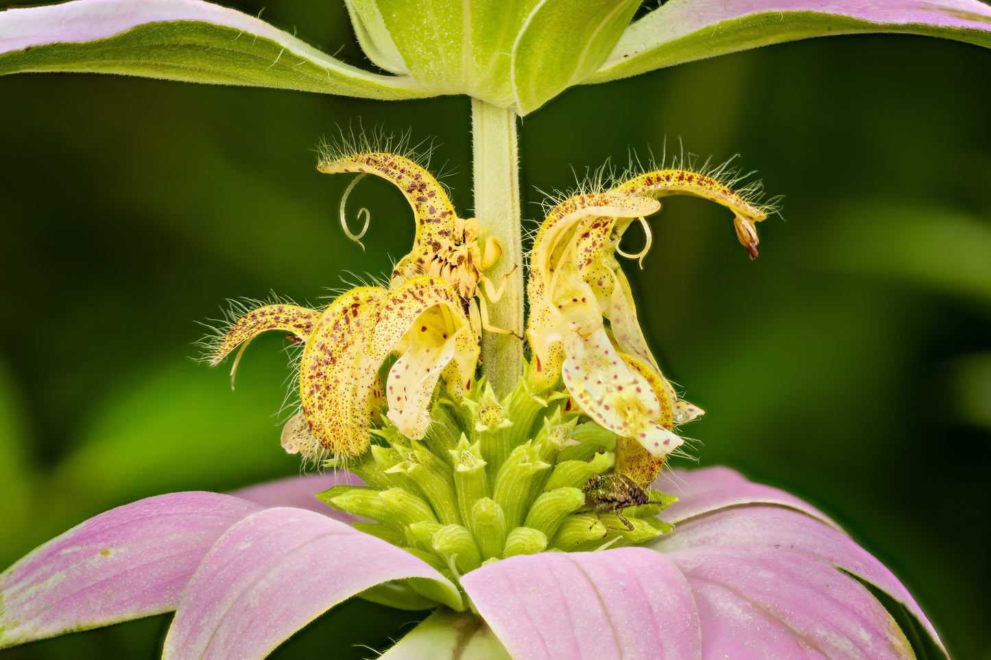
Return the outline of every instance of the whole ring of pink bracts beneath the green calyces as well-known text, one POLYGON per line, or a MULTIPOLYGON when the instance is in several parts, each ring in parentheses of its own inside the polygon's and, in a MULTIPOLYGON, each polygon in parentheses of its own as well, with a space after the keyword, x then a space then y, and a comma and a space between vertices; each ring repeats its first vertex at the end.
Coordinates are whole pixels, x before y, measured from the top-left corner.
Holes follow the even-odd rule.
MULTIPOLYGON (((176 609, 165 658, 262 658, 333 605, 401 582, 441 609, 388 657, 437 643, 453 654, 472 620, 457 588, 310 495, 337 480, 357 481, 301 477, 101 513, 0 576, 0 646, 176 609), (438 625, 458 634, 438 637, 438 625)), ((898 579, 802 500, 726 468, 657 486, 681 497, 663 516, 677 527, 645 546, 517 556, 463 576, 485 621, 469 634, 527 660, 911 656, 863 581, 942 648, 898 579)))

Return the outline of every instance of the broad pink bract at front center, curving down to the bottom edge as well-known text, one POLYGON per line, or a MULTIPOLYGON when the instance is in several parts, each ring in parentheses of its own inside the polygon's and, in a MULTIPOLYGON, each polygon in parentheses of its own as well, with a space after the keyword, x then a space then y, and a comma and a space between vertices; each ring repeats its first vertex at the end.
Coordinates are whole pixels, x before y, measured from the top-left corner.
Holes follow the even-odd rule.
POLYGON ((646 548, 511 557, 461 584, 517 660, 701 657, 685 577, 646 548))

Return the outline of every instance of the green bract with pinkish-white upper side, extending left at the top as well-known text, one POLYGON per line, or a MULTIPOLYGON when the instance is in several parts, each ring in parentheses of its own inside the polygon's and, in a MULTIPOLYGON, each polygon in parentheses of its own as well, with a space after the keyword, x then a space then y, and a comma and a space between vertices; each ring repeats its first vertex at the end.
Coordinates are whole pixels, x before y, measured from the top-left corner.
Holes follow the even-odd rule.
POLYGON ((200 0, 77 0, 0 12, 0 74, 124 73, 376 99, 429 96, 408 76, 350 66, 273 26, 200 0))

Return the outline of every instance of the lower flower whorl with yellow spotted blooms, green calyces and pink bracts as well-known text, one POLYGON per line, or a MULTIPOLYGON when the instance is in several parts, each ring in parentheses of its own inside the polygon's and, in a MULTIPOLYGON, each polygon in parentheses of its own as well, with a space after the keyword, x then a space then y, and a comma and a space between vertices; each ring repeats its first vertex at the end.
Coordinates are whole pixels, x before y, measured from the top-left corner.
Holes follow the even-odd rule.
POLYGON ((387 286, 324 309, 248 310, 212 362, 269 330, 303 343, 282 446, 351 475, 161 495, 86 521, 0 576, 0 644, 175 609, 165 658, 261 658, 359 597, 433 609, 385 658, 906 657, 904 632, 861 582, 937 639, 818 510, 725 469, 662 474, 679 425, 702 410, 647 348, 619 239, 657 198, 696 194, 734 213, 755 255, 753 223, 771 209, 726 172, 687 167, 551 206, 529 257, 532 358, 500 397, 477 374, 488 323, 472 308, 491 266, 478 232, 408 158, 321 163, 396 184, 412 251, 387 286), (148 565, 159 568, 139 577, 148 565))

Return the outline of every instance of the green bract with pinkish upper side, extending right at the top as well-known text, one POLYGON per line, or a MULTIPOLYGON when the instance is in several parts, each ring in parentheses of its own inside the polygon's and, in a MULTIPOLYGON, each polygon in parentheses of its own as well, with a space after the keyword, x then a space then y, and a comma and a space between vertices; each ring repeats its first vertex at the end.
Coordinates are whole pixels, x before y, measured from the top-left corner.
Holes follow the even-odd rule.
POLYGON ((631 25, 603 67, 585 82, 769 44, 861 32, 904 32, 991 47, 991 7, 979 0, 671 0, 631 25))

